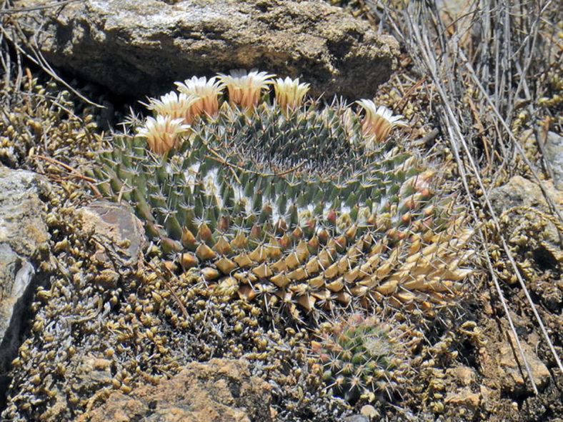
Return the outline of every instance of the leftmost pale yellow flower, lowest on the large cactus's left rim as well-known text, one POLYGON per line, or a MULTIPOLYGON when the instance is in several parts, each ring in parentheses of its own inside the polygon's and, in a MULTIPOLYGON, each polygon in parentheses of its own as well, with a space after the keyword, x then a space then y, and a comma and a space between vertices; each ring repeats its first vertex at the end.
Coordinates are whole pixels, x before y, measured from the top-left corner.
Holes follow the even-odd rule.
POLYGON ((154 154, 163 155, 172 148, 178 148, 181 135, 189 130, 189 124, 183 121, 171 116, 147 117, 144 126, 137 129, 136 136, 146 138, 146 144, 154 154))

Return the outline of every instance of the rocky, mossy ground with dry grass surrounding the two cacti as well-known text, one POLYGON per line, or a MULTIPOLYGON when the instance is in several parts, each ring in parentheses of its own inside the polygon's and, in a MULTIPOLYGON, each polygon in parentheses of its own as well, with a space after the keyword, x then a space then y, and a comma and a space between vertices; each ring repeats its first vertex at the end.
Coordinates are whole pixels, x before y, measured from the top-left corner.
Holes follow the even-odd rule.
POLYGON ((37 7, 46 3, 4 2, 0 15, 3 420, 563 420, 557 4, 504 16, 463 1, 37 7), (483 34, 501 39, 501 17, 537 41, 514 39, 520 55, 507 56, 494 41, 495 74, 480 45, 483 34), (129 209, 97 199, 84 176, 107 147, 102 128, 139 110, 137 100, 240 67, 404 114, 404 137, 435 166, 447 163, 449 189, 475 207, 474 274, 459 306, 424 321, 412 371, 389 395, 352 405, 332 397, 312 352, 318 321, 171 272, 129 209))

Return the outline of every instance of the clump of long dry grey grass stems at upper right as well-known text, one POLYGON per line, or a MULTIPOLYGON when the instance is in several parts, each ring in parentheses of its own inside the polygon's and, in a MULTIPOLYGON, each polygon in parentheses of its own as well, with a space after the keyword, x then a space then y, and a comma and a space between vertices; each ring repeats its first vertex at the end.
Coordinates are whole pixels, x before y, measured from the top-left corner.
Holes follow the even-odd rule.
MULTIPOLYGON (((479 203, 489 215, 544 341, 559 370, 563 372, 561 359, 532 301, 514 253, 500 230, 499 218, 489 201, 488 192, 492 185, 487 186, 484 182, 484 178, 496 181, 502 174, 514 174, 514 163, 522 162, 524 170, 532 174, 542 189, 554 216, 563 221, 562 214, 547 192, 541 171, 529 159, 513 130, 517 114, 522 109, 529 116, 541 114, 537 109, 537 99, 548 88, 547 84, 538 83, 539 76, 543 78, 540 80, 544 80, 551 67, 560 68, 562 65, 561 59, 552 55, 551 47, 556 44, 554 36, 549 31, 541 30, 545 26, 555 28, 550 22, 557 18, 553 12, 557 7, 551 0, 534 4, 506 4, 497 0, 467 1, 462 11, 450 16, 429 2, 409 1, 394 7, 382 6, 377 1, 367 1, 366 4, 372 14, 379 17, 380 28, 387 26, 406 44, 414 64, 422 71, 421 79, 412 89, 423 84, 427 85, 429 93, 437 92, 439 103, 431 104, 430 108, 447 134, 469 197, 472 215, 475 221, 479 221, 480 213, 475 206, 479 203), (492 40, 492 44, 489 40, 492 40), (430 76, 428 81, 426 76, 430 76), (464 103, 469 107, 465 107, 464 103), (474 141, 476 139, 479 141, 474 141), (475 183, 482 191, 480 198, 475 196, 472 189, 475 183)), ((549 122, 554 121, 550 117, 546 117, 544 127, 549 127, 549 122)), ((537 139, 541 139, 539 131, 537 139)), ((543 151, 542 145, 539 145, 539 149, 543 151)), ((547 169, 549 165, 544 164, 544 167, 547 169)), ((549 174, 549 170, 547 172, 549 174)), ((482 226, 478 231, 486 245, 487 237, 482 226)), ((537 393, 487 248, 483 248, 482 256, 517 339, 532 388, 537 393)))

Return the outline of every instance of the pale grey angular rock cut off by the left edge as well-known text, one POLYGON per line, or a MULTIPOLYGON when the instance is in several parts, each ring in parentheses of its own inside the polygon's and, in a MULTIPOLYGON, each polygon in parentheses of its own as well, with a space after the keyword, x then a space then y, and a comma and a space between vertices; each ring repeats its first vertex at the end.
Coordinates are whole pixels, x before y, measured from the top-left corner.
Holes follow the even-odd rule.
MULTIPOLYGON (((49 184, 31 171, 0 164, 0 389, 17 353, 36 288, 34 258, 49 241, 41 198, 49 184)), ((46 249, 46 248, 44 248, 46 249)))

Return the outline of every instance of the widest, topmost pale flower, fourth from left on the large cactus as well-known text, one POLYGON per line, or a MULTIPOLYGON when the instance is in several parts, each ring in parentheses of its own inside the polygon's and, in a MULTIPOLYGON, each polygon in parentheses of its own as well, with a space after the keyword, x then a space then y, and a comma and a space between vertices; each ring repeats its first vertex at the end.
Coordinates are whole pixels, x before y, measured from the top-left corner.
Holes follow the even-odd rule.
POLYGON ((219 79, 229 90, 229 101, 247 109, 254 109, 262 91, 271 84, 275 75, 252 70, 234 70, 230 75, 219 74, 219 79))

